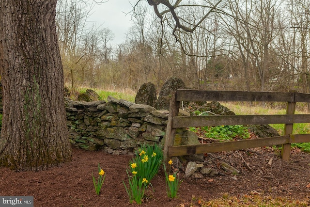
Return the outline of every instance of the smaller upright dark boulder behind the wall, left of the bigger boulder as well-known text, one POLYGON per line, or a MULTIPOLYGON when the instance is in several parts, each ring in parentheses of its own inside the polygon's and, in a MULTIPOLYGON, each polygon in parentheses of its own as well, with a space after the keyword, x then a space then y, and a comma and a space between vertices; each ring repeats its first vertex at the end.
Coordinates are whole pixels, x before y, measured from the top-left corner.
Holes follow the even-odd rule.
POLYGON ((136 95, 135 103, 155 106, 155 102, 156 102, 155 85, 151 82, 142 84, 136 95))

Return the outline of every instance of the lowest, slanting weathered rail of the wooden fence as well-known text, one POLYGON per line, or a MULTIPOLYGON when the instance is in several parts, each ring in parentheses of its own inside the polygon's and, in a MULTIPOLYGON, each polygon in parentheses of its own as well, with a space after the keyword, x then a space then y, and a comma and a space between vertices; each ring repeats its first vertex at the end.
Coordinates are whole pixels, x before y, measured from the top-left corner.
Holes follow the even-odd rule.
POLYGON ((181 145, 181 146, 170 146, 168 148, 168 156, 182 156, 212 152, 222 152, 230 150, 240 150, 263 146, 272 146, 278 144, 289 143, 289 135, 279 137, 267 137, 253 140, 240 140, 223 143, 207 143, 197 145, 181 145))

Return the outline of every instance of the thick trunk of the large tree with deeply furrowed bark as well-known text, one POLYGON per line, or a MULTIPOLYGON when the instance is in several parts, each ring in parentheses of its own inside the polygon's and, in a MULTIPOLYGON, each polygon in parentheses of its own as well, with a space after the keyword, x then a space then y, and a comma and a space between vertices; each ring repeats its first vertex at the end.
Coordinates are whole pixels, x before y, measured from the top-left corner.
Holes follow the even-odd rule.
POLYGON ((15 171, 45 170, 71 160, 56 2, 0 1, 0 166, 15 171))

